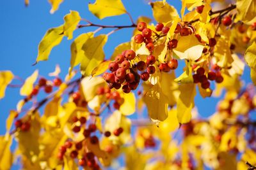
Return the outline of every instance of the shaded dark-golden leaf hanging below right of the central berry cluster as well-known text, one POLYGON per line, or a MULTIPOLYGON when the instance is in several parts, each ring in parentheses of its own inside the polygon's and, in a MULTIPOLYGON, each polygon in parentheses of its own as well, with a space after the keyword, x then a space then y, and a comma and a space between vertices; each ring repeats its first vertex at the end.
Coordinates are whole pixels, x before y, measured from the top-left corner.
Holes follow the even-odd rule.
POLYGON ((148 115, 154 120, 164 121, 168 117, 168 98, 163 94, 159 84, 148 90, 144 97, 148 115))

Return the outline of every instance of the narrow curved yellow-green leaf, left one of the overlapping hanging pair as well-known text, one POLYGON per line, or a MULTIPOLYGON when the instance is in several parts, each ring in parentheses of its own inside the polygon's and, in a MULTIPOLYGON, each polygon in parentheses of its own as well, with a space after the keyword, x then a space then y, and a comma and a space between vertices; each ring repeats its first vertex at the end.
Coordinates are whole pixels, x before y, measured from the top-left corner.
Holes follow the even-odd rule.
POLYGON ((70 69, 69 73, 71 73, 73 67, 77 66, 81 63, 84 58, 84 51, 82 47, 84 43, 93 37, 93 32, 87 32, 85 34, 79 35, 71 44, 71 59, 70 59, 70 69))

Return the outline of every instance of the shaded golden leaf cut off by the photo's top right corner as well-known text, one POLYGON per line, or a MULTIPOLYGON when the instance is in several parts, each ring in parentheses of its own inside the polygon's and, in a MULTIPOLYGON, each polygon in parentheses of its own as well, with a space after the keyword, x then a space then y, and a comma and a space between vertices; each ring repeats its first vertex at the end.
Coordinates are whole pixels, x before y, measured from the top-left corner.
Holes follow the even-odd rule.
POLYGON ((256 2, 255 0, 237 0, 237 20, 242 20, 243 22, 249 22, 253 20, 256 16, 256 2))

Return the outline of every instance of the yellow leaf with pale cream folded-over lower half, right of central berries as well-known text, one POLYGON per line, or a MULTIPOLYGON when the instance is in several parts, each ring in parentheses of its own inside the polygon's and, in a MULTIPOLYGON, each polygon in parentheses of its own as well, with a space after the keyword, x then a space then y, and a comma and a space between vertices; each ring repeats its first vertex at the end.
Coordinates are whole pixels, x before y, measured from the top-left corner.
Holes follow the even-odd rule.
POLYGON ((195 35, 181 36, 173 52, 179 59, 197 60, 201 57, 204 45, 201 45, 195 35))

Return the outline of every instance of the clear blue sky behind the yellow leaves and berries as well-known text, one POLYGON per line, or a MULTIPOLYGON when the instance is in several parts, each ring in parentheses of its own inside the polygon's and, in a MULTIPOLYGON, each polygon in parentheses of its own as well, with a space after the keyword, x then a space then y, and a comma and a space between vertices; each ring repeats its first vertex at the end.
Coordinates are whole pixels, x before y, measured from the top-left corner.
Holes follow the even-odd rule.
MULTIPOLYGON (((99 20, 88 11, 88 2, 93 3, 93 0, 65 0, 60 9, 53 15, 49 13, 51 9, 47 0, 31 0, 31 4, 26 8, 23 0, 8 0, 1 2, 0 8, 0 70, 11 70, 13 74, 21 78, 28 77, 35 69, 39 69, 42 76, 47 76, 48 73, 54 71, 56 64, 60 64, 61 77, 64 77, 68 72, 70 62, 70 44, 67 38, 59 46, 56 46, 51 52, 49 60, 40 62, 36 66, 31 66, 37 55, 37 46, 47 29, 63 24, 63 17, 69 10, 79 11, 81 17, 86 18, 96 24, 108 25, 127 25, 130 20, 127 15, 118 17, 109 17, 104 20, 99 20)), ((138 16, 144 15, 152 17, 150 6, 145 0, 123 0, 125 8, 136 20, 138 16)), ((180 11, 181 2, 179 0, 168 1, 180 11)), ((74 38, 77 35, 87 32, 92 29, 80 29, 74 33, 74 38)), ((103 31, 107 33, 111 29, 103 31)), ((116 45, 129 41, 131 39, 132 29, 122 29, 121 31, 111 34, 108 39, 104 51, 106 57, 111 56, 116 45)), ((243 78, 247 82, 251 82, 250 73, 246 67, 246 72, 243 78)), ((19 83, 15 81, 13 83, 19 83)), ((0 134, 5 132, 5 120, 8 117, 10 110, 16 108, 17 102, 22 99, 19 96, 19 89, 7 89, 6 97, 0 100, 0 134)), ((200 115, 207 117, 214 113, 218 99, 213 97, 202 99, 199 94, 196 96, 195 104, 198 107, 200 115)))

